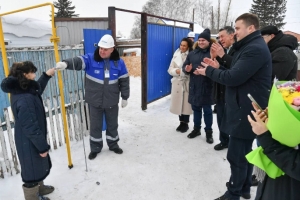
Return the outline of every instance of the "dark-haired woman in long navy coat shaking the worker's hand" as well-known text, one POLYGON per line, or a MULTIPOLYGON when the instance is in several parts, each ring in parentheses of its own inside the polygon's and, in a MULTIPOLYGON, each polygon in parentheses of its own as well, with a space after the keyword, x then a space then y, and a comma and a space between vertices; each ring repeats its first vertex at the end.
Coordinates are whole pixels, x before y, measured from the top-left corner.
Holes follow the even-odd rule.
POLYGON ((47 122, 41 94, 55 70, 44 72, 35 81, 37 68, 30 61, 14 63, 1 83, 1 89, 11 93, 11 108, 15 118, 15 143, 24 182, 26 200, 48 200, 53 192, 43 180, 49 175, 51 160, 48 154, 47 122))

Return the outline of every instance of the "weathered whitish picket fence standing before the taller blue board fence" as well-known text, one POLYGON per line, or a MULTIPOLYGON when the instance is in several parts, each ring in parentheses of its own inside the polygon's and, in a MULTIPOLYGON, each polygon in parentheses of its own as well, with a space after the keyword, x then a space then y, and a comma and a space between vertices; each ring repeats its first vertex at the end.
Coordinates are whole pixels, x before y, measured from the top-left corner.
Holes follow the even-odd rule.
MULTIPOLYGON (((88 136, 89 109, 84 102, 83 92, 69 93, 70 102, 66 104, 66 115, 70 141, 82 140, 88 136)), ((65 144, 65 136, 60 112, 60 98, 54 96, 43 99, 47 116, 47 140, 51 150, 65 144), (51 103, 53 102, 53 103, 51 103)), ((12 176, 20 173, 20 165, 14 142, 14 120, 10 108, 4 109, 4 122, 0 119, 0 177, 12 176)))

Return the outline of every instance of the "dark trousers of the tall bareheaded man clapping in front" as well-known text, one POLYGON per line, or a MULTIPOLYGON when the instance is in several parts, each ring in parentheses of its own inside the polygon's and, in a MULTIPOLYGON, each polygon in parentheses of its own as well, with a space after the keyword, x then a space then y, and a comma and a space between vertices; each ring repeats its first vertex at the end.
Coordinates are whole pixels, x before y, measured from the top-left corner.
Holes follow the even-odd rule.
POLYGON ((248 163, 246 154, 252 150, 252 140, 230 137, 227 160, 231 168, 231 176, 227 195, 231 200, 239 200, 241 194, 249 194, 252 182, 253 165, 248 163))

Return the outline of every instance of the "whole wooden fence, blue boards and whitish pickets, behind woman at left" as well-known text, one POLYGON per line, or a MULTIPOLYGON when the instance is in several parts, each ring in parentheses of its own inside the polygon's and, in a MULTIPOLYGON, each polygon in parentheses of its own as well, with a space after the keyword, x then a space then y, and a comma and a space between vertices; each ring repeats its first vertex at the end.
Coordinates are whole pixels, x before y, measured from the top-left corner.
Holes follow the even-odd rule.
MULTIPOLYGON (((82 49, 60 50, 59 53, 61 59, 66 59, 82 54, 82 49)), ((32 61, 38 68, 37 78, 43 71, 55 66, 52 50, 11 51, 8 52, 8 56, 10 66, 12 62, 32 61)), ((0 70, 0 78, 1 80, 4 78, 3 67, 2 72, 0 70)), ((62 71, 62 80, 70 141, 79 141, 88 135, 89 127, 88 107, 84 102, 84 72, 64 70, 62 71)), ((20 173, 20 164, 14 142, 14 120, 10 107, 8 107, 9 101, 7 95, 0 92, 0 177, 4 178, 20 173)), ((42 99, 47 116, 47 140, 51 150, 55 150, 65 145, 57 76, 49 80, 42 99)))

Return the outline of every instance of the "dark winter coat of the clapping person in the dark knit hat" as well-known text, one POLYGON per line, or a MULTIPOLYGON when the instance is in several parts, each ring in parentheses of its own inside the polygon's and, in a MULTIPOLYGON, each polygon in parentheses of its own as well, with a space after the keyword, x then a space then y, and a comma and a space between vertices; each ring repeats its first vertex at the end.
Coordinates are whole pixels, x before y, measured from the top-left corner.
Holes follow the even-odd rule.
POLYGON ((195 75, 193 72, 203 62, 204 58, 210 58, 210 48, 200 49, 197 47, 190 52, 183 63, 182 71, 190 75, 189 85, 189 103, 194 106, 212 105, 213 104, 213 81, 202 75, 195 75), (192 64, 190 72, 185 71, 185 66, 192 64))

